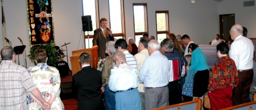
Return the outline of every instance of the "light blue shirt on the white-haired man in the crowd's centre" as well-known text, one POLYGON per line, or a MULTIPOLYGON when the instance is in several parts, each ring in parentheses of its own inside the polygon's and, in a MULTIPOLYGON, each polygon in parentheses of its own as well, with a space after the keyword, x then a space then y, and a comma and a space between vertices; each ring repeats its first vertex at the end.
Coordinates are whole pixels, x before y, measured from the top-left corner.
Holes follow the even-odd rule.
POLYGON ((170 63, 160 51, 153 52, 139 71, 139 82, 144 87, 162 87, 169 83, 170 63))

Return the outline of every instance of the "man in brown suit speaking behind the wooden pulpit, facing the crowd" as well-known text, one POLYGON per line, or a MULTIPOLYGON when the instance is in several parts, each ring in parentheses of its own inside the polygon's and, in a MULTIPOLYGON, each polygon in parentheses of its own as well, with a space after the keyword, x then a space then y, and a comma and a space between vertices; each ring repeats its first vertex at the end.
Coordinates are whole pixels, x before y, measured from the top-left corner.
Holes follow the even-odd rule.
POLYGON ((93 35, 93 48, 98 47, 98 57, 104 58, 104 56, 108 56, 105 54, 106 43, 108 41, 114 41, 114 37, 112 36, 112 30, 106 29, 107 19, 101 18, 100 20, 100 28, 94 30, 93 35))

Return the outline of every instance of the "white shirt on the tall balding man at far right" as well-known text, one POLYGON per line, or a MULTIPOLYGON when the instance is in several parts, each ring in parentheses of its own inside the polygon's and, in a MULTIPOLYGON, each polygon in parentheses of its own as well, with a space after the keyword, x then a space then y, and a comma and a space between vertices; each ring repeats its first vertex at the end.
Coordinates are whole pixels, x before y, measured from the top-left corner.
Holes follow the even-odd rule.
POLYGON ((253 52, 253 42, 240 35, 231 44, 229 56, 234 60, 238 70, 247 70, 253 68, 253 52))

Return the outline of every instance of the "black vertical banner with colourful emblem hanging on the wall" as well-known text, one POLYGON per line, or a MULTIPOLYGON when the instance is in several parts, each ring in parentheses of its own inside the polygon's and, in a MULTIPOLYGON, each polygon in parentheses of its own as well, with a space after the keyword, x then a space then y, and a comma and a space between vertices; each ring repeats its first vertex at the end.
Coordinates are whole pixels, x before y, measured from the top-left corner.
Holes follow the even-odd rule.
POLYGON ((55 44, 52 0, 27 0, 27 14, 30 46, 55 44))

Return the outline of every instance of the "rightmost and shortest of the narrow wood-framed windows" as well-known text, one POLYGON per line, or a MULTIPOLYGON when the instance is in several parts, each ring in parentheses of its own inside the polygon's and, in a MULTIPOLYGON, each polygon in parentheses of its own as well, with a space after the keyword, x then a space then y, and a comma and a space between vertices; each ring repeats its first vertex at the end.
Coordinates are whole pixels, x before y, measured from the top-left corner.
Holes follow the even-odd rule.
POLYGON ((156 16, 156 39, 159 43, 166 39, 169 33, 168 11, 155 11, 156 16))

